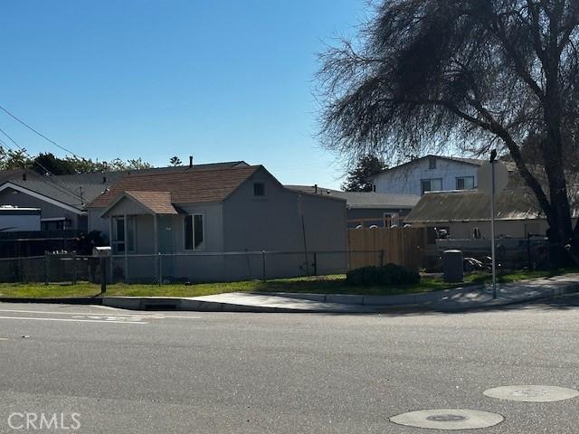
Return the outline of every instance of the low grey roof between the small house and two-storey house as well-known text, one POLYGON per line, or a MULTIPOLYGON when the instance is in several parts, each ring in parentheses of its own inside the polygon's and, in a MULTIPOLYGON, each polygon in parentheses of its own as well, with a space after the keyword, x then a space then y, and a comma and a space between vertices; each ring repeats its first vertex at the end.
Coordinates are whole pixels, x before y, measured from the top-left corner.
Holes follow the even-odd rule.
POLYGON ((382 209, 404 208, 410 209, 418 203, 420 196, 413 194, 340 192, 329 188, 309 185, 284 185, 286 188, 305 193, 316 193, 322 197, 346 199, 346 206, 350 209, 382 209))

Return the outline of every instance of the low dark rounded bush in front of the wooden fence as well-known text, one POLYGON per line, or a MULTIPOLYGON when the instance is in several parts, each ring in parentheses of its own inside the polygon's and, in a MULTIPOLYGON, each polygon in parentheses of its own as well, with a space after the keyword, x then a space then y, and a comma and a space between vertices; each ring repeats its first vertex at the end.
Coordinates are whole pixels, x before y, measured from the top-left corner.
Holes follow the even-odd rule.
POLYGON ((420 282, 418 271, 405 269, 396 264, 384 267, 362 267, 346 274, 346 283, 354 286, 413 285, 420 282))

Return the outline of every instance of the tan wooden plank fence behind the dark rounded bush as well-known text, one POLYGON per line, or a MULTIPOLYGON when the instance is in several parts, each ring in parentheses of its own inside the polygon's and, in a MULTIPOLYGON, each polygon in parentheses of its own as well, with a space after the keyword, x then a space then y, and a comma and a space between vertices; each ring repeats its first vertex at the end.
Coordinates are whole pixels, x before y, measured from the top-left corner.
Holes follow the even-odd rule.
POLYGON ((348 269, 387 263, 409 269, 422 267, 424 228, 348 229, 348 269))

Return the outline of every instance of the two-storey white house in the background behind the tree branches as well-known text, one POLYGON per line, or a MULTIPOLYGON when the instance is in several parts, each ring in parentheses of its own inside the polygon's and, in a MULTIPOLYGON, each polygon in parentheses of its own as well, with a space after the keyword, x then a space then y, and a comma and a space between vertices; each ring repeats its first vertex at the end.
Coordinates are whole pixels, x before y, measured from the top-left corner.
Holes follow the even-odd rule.
POLYGON ((415 194, 470 190, 477 186, 477 169, 485 160, 452 156, 422 156, 373 176, 376 193, 415 194))

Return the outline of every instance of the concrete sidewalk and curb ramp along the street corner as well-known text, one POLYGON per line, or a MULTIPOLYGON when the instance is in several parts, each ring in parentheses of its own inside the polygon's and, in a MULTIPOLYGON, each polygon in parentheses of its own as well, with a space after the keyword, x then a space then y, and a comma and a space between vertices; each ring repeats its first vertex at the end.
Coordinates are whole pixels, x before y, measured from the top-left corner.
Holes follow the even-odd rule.
POLYGON ((379 313, 392 307, 421 307, 455 312, 579 292, 579 274, 499 284, 498 289, 497 299, 492 298, 492 288, 487 285, 400 296, 233 292, 193 298, 103 297, 102 304, 128 309, 213 312, 379 313))

